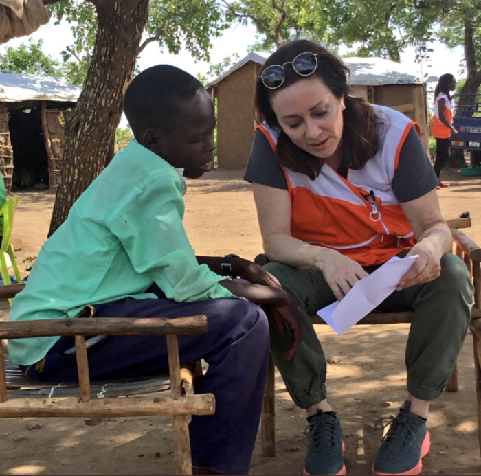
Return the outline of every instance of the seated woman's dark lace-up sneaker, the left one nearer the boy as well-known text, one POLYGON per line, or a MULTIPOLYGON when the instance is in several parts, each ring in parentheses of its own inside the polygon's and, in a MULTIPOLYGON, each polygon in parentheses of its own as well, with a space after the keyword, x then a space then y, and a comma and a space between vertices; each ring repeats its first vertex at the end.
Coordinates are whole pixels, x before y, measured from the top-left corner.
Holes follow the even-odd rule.
POLYGON ((335 412, 317 410, 317 415, 309 418, 306 433, 309 446, 302 474, 345 475, 342 428, 335 412))

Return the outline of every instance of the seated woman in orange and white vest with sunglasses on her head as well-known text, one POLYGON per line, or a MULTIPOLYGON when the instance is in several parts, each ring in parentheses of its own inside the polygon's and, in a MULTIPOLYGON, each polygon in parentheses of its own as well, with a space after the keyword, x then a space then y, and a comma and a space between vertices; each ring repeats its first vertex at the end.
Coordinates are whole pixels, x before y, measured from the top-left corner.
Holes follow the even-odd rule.
MULTIPOLYGON (((266 268, 302 315, 302 343, 271 353, 298 407, 306 409, 304 474, 346 474, 342 429, 326 400, 326 359, 309 313, 342 299, 393 256, 418 255, 379 310, 414 310, 407 341, 407 398, 373 474, 418 474, 429 449, 429 401, 449 380, 470 319, 472 285, 449 253, 438 180, 417 126, 405 115, 348 95, 348 69, 311 41, 272 54, 256 85, 256 131, 245 173, 253 182, 266 268)), ((387 397, 384 397, 387 398, 387 397)))

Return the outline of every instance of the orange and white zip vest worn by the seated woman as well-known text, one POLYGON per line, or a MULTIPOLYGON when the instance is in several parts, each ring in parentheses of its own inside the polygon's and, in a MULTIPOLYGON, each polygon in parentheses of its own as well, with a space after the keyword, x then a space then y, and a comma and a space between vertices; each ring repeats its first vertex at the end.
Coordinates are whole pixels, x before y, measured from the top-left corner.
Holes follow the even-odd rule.
MULTIPOLYGON (((283 168, 291 197, 291 235, 311 245, 339 251, 361 266, 386 262, 416 240, 392 192, 392 178, 407 133, 417 124, 393 109, 373 105, 379 126, 379 150, 347 179, 324 163, 315 180, 283 168)), ((258 126, 272 148, 278 132, 258 126)))

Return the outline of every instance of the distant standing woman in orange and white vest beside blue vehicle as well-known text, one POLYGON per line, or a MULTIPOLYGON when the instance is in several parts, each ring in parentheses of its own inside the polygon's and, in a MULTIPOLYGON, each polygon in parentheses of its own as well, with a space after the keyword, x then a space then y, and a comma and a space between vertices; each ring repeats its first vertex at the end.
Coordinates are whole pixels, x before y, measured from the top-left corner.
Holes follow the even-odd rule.
POLYGON ((431 123, 431 135, 436 139, 436 161, 434 173, 438 177, 438 187, 449 187, 449 184, 439 180, 441 169, 449 159, 449 137, 458 135, 453 127, 453 102, 451 91, 456 88, 456 80, 452 74, 443 74, 434 90, 434 112, 431 123))

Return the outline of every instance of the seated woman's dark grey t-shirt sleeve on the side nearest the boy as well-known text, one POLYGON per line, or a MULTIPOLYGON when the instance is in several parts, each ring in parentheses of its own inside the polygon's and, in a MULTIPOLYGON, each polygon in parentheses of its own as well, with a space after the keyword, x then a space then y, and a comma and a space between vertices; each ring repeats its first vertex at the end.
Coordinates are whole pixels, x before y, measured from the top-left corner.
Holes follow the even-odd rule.
POLYGON ((262 131, 257 130, 254 134, 251 155, 245 169, 244 180, 288 190, 284 170, 282 170, 276 158, 276 152, 274 152, 262 131))

